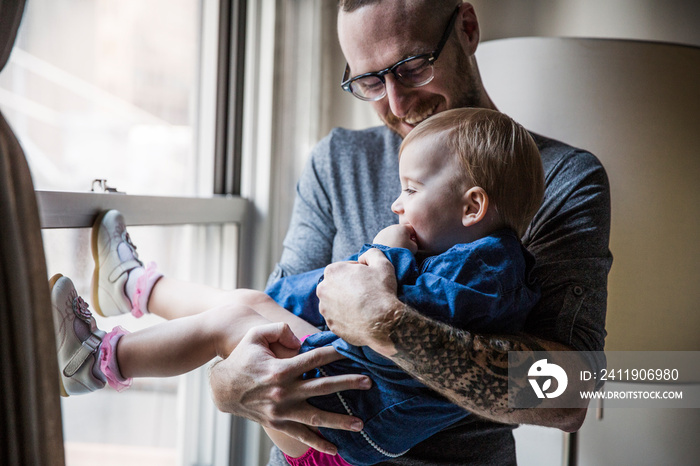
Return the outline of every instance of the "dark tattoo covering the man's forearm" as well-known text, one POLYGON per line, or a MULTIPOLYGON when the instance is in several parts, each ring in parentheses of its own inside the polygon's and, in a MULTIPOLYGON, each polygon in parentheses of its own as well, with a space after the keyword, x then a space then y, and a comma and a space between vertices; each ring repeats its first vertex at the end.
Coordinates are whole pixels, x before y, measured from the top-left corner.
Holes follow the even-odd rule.
MULTIPOLYGON (((397 350, 392 359, 401 368, 456 404, 483 415, 513 412, 509 396, 531 396, 531 390, 522 390, 524 386, 508 392, 508 351, 544 351, 524 335, 473 335, 407 308, 389 336, 397 350)), ((527 371, 533 362, 527 358, 518 367, 527 371)))

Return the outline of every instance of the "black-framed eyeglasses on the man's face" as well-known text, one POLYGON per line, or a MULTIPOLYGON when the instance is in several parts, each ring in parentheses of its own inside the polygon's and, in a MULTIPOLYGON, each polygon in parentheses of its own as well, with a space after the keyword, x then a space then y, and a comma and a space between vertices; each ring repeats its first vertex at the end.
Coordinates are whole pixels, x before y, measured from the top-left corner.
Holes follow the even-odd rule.
POLYGON ((450 37, 458 13, 459 7, 452 13, 447 29, 442 34, 442 38, 434 51, 404 58, 389 68, 361 74, 354 78, 348 78, 350 65, 345 64, 345 73, 343 73, 343 80, 340 86, 344 91, 352 93, 358 99, 367 101, 376 101, 384 98, 386 95, 386 79, 384 76, 389 73, 393 74, 396 80, 406 87, 425 86, 435 77, 433 66, 440 56, 442 48, 447 43, 447 39, 450 37))

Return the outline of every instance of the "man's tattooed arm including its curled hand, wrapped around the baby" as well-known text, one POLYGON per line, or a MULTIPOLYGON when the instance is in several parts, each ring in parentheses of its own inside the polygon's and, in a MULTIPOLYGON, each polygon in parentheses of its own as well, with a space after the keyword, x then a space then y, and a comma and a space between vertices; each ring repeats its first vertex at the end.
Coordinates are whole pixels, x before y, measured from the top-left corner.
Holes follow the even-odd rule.
MULTIPOLYGON (((508 392, 508 351, 571 348, 524 335, 473 335, 428 319, 396 298, 393 268, 379 251, 369 251, 361 262, 371 266, 331 264, 317 289, 321 313, 337 335, 389 357, 425 385, 485 418, 570 432, 583 423, 585 406, 569 409, 508 406, 509 396, 524 393, 518 388, 508 392), (353 285, 343 286, 346 283, 353 285)), ((533 362, 523 361, 523 366, 529 367, 533 362)), ((531 393, 529 387, 519 388, 527 388, 531 393)))

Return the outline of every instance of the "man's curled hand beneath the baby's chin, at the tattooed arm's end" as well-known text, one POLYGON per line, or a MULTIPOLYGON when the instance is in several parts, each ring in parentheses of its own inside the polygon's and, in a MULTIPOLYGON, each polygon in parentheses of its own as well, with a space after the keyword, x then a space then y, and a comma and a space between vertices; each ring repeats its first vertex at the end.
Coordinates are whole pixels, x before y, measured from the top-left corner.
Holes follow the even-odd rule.
POLYGON ((386 256, 370 249, 358 262, 329 265, 323 275, 316 294, 319 311, 333 333, 353 345, 394 354, 389 329, 404 305, 396 297, 394 266, 386 256))

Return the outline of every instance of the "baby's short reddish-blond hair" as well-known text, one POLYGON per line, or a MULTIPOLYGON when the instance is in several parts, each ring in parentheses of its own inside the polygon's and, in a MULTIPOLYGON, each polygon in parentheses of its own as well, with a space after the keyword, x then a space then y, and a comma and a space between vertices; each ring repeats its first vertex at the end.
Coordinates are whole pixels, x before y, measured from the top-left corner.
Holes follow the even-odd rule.
POLYGON ((434 137, 457 156, 464 177, 458 189, 483 188, 501 221, 525 234, 544 196, 544 170, 530 133, 509 116, 484 108, 438 113, 414 128, 401 144, 434 137))

